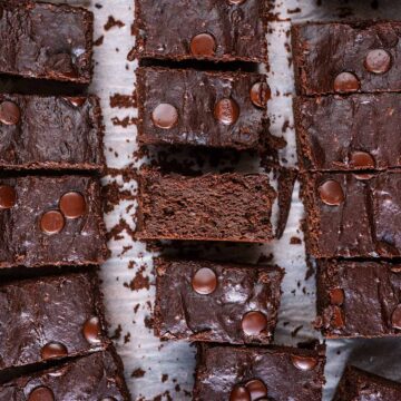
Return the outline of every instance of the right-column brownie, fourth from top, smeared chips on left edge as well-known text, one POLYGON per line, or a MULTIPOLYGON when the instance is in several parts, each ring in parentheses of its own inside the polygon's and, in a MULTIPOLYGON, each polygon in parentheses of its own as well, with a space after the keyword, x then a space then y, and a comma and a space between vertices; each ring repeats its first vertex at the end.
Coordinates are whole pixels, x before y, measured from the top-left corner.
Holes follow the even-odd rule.
POLYGON ((317 267, 316 325, 325 336, 401 335, 401 264, 329 260, 317 267))

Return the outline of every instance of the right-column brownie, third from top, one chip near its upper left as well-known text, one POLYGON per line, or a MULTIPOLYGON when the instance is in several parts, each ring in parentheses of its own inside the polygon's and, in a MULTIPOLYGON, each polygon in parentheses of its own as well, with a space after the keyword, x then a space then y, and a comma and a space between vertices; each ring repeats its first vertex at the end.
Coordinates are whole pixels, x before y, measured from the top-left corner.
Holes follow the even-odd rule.
POLYGON ((312 256, 400 256, 400 174, 315 173, 302 180, 312 256))

